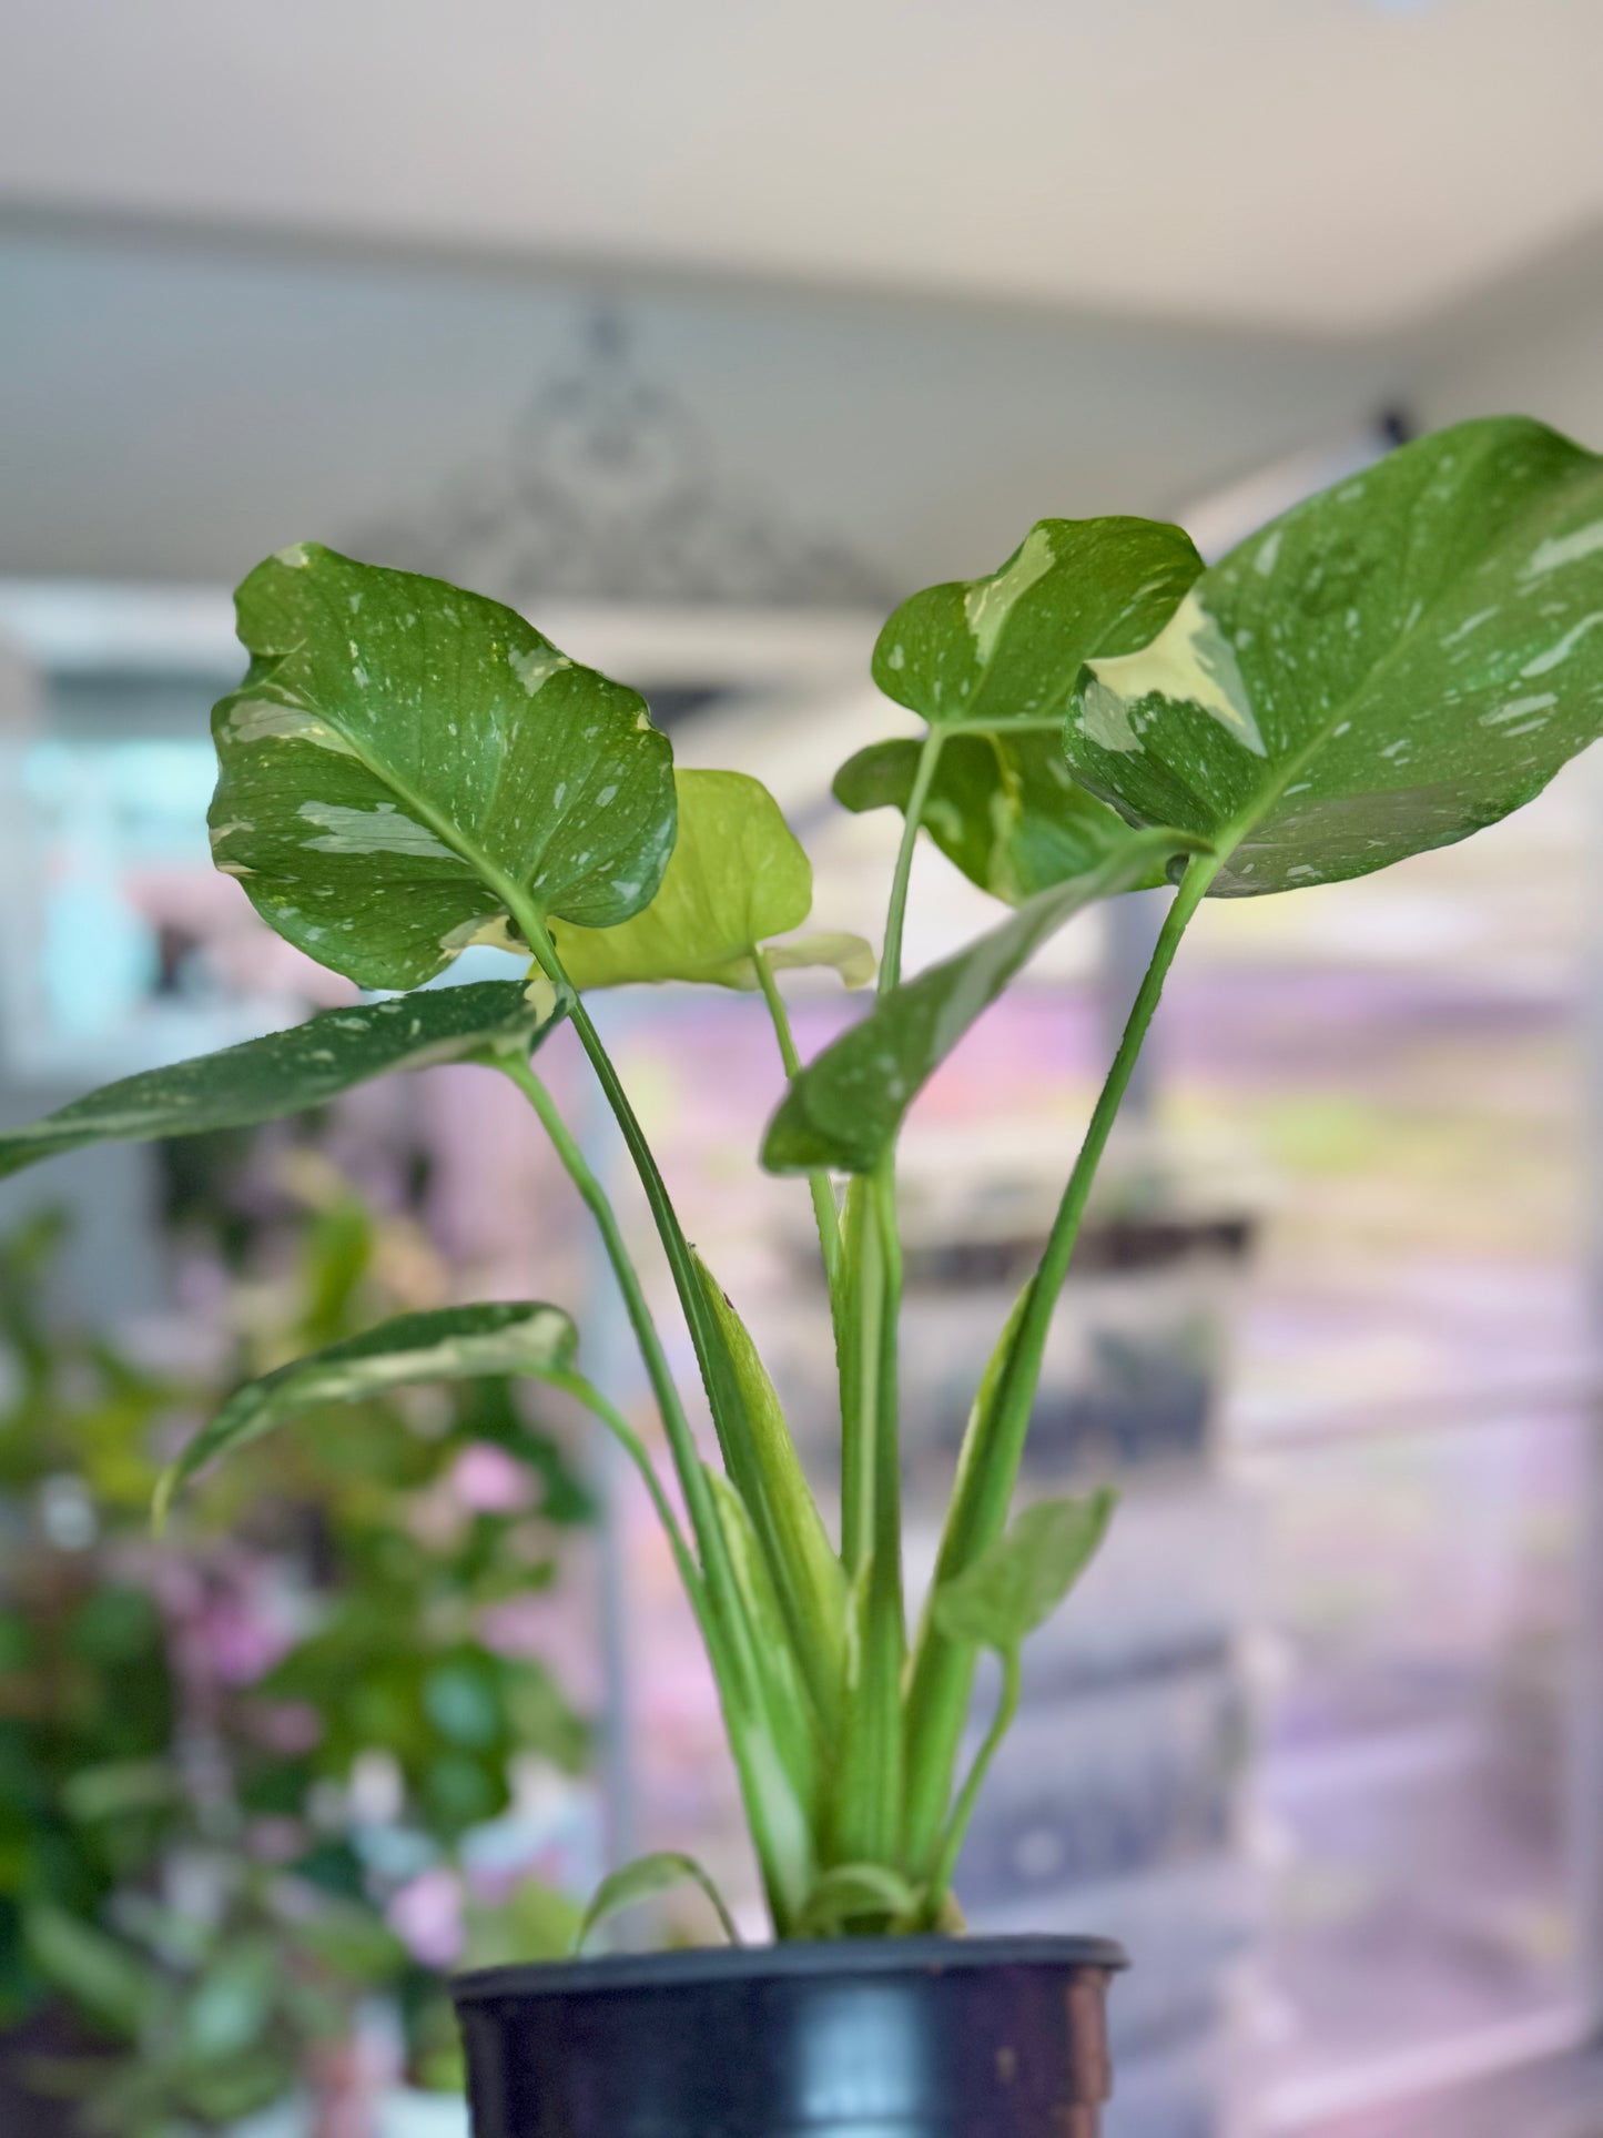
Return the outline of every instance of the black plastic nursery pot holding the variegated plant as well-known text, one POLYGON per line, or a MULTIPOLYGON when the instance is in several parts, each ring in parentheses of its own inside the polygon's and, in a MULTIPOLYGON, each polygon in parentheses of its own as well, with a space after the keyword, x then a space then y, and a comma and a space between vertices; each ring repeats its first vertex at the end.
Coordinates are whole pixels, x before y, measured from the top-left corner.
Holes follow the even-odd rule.
POLYGON ((453 1984, 472 2138, 1096 2138, 1101 1937, 849 1939, 453 1984))

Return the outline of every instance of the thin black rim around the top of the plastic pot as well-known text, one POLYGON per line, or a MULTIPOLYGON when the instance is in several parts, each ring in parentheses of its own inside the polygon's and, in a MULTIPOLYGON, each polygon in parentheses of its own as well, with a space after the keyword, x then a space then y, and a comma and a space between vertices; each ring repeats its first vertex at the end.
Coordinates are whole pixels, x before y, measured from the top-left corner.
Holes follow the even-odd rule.
POLYGON ((707 1982, 808 1976, 945 1976, 979 1967, 1129 1967, 1111 1937, 819 1937, 772 1946, 690 1946, 680 1952, 611 1952, 590 1961, 524 1961, 451 1978, 457 2005, 500 1997, 573 1997, 596 1990, 695 1988, 707 1982))

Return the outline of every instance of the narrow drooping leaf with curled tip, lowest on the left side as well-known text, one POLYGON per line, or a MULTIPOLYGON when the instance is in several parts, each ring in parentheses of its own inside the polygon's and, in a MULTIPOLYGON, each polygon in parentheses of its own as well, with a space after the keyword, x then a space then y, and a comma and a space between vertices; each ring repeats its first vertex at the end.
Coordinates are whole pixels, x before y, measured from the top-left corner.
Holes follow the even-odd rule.
POLYGON ((564 1381, 573 1377, 577 1349, 579 1334, 562 1308, 532 1300, 395 1315, 237 1390, 162 1473, 156 1520, 207 1462, 259 1441, 301 1411, 368 1403, 419 1381, 472 1381, 481 1375, 564 1381))

